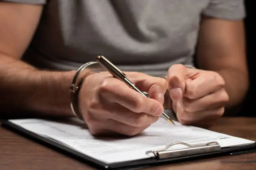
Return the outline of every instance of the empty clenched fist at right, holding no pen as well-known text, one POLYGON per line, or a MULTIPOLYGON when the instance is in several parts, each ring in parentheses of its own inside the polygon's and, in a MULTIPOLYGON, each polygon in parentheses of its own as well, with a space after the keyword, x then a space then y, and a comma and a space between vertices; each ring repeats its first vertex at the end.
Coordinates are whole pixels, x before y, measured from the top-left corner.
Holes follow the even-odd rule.
POLYGON ((223 115, 228 94, 217 72, 177 64, 169 68, 167 82, 172 109, 183 125, 208 128, 223 115))

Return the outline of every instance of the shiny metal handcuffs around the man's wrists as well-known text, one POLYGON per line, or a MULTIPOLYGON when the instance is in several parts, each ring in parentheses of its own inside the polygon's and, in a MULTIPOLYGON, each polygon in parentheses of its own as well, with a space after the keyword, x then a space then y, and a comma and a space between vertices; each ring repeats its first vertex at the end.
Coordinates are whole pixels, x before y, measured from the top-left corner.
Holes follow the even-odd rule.
MULTIPOLYGON (((195 68, 194 66, 191 66, 191 65, 184 65, 184 66, 188 67, 188 68, 195 68)), ((83 116, 78 107, 78 95, 79 95, 80 87, 84 80, 84 76, 88 73, 88 72, 83 73, 84 69, 88 69, 88 72, 99 72, 99 71, 105 70, 97 61, 91 61, 91 62, 87 62, 87 63, 83 64, 81 67, 79 67, 79 69, 77 70, 77 72, 75 73, 75 75, 73 77, 72 84, 70 86, 70 93, 71 93, 70 94, 70 99, 71 99, 70 105, 71 105, 73 114, 81 120, 83 120, 83 116)), ((162 78, 166 79, 167 77, 165 75, 162 78)), ((146 93, 146 92, 143 92, 143 93, 146 93)))

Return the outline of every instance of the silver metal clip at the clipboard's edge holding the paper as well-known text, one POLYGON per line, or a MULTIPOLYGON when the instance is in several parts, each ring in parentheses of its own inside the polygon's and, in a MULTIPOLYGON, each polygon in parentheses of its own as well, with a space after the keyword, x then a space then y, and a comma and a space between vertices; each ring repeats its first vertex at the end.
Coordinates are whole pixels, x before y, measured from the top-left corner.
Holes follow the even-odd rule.
POLYGON ((165 158, 177 158, 182 156, 188 155, 199 155, 202 153, 212 153, 220 151, 220 144, 218 142, 209 142, 209 143, 202 143, 202 144, 194 144, 190 145, 184 142, 175 142, 172 143, 165 148, 156 149, 146 151, 146 154, 153 153, 156 159, 165 159, 165 158), (188 148, 182 148, 177 150, 167 150, 174 145, 185 145, 188 148))

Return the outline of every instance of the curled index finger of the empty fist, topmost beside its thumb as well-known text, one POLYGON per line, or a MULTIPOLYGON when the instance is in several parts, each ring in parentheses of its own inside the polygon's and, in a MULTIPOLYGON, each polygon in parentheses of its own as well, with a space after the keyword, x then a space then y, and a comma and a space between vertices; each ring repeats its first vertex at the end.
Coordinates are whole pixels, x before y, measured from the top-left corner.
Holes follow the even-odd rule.
POLYGON ((209 95, 225 86, 225 81, 217 72, 205 71, 197 78, 186 81, 184 97, 198 99, 209 95))

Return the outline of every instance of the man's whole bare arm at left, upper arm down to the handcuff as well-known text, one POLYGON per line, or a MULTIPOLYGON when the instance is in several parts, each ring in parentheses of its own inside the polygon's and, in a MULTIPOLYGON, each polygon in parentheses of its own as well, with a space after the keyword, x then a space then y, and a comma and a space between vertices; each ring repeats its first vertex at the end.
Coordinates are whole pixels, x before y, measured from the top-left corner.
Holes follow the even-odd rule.
POLYGON ((20 60, 31 42, 42 8, 0 2, 0 118, 35 111, 37 115, 72 115, 69 85, 74 71, 40 71, 20 60))

